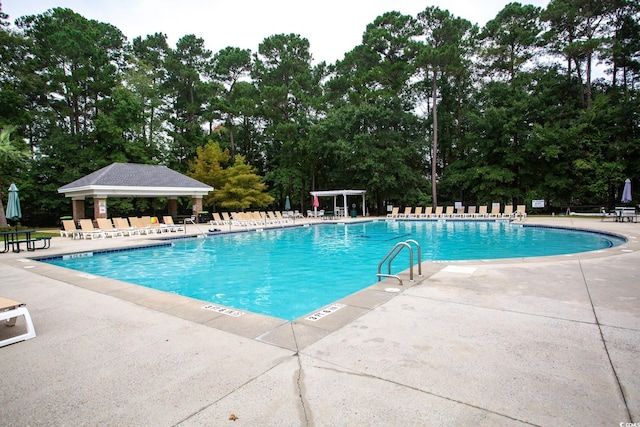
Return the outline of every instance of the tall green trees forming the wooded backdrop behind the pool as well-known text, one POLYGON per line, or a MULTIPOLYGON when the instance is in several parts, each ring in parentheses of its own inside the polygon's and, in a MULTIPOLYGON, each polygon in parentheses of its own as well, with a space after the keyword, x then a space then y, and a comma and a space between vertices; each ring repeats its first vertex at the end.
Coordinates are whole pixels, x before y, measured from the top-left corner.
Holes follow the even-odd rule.
POLYGON ((611 206, 625 178, 640 184, 639 12, 631 0, 510 3, 478 27, 437 7, 390 11, 332 64, 314 63, 298 34, 213 53, 194 34, 128 41, 65 8, 13 25, 2 14, 0 126, 28 152, 2 158, 2 186, 19 182, 25 214, 52 222, 70 210, 64 184, 113 162, 206 179, 199 156, 216 143, 228 152, 218 166, 263 177, 270 197, 248 208, 290 196, 304 211, 309 191, 342 188, 367 190, 371 214, 611 206))

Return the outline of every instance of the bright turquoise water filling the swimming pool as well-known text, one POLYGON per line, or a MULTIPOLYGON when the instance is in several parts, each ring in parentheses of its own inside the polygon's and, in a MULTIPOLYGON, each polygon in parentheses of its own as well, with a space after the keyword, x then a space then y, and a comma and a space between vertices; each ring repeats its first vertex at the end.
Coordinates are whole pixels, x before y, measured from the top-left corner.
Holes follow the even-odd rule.
MULTIPOLYGON (((178 239, 46 262, 293 320, 375 283, 380 261, 407 239, 420 243, 423 261, 559 255, 624 243, 611 235, 508 222, 378 221, 178 239)), ((408 251, 401 253, 392 272, 406 270, 408 258, 408 251)))

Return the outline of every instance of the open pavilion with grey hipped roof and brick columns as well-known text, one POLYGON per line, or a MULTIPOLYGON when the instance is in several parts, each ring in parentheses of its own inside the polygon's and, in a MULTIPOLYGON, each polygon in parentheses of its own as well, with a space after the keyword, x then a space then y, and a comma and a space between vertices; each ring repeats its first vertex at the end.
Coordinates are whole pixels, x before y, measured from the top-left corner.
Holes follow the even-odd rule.
POLYGON ((178 197, 191 197, 193 215, 202 210, 202 197, 213 187, 161 165, 112 163, 72 183, 58 193, 72 200, 73 219, 84 218, 84 200, 94 199, 94 218, 107 217, 108 197, 166 197, 169 215, 178 215, 178 197))

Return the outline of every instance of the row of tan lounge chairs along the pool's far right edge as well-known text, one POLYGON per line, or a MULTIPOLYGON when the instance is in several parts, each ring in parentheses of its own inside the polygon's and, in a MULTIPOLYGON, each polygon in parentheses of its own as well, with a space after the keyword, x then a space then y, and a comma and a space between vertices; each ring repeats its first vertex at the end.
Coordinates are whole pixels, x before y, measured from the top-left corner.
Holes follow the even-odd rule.
POLYGON ((387 214, 387 218, 422 218, 422 219, 446 219, 446 218, 460 218, 460 219, 482 219, 482 218, 494 218, 494 219, 524 219, 527 217, 527 210, 525 205, 517 205, 516 210, 513 210, 513 205, 506 205, 504 210, 501 211, 499 204, 494 204, 491 211, 488 211, 487 206, 462 206, 456 209, 454 206, 436 206, 435 210, 432 206, 422 208, 422 206, 406 207, 404 212, 400 212, 399 207, 394 207, 391 213, 387 214))

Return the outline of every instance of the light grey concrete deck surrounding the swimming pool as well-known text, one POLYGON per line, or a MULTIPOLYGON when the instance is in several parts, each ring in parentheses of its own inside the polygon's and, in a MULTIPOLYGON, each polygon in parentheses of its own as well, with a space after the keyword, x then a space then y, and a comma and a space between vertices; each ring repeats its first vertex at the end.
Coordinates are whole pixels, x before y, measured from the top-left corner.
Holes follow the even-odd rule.
MULTIPOLYGON (((414 283, 385 280, 317 321, 294 322, 233 317, 29 259, 153 236, 54 238, 48 250, 0 254, 0 295, 27 303, 38 334, 0 348, 0 424, 640 422, 640 224, 525 223, 629 242, 568 256, 425 262, 414 283)), ((21 327, 0 326, 0 339, 21 327)))

